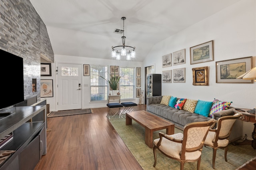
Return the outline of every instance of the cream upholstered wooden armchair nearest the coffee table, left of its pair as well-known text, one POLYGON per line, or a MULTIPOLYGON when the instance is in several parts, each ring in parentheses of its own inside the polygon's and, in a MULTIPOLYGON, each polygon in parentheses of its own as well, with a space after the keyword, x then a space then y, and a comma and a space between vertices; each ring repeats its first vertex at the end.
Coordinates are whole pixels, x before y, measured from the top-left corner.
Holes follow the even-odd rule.
POLYGON ((200 168, 201 153, 204 140, 214 124, 214 119, 205 122, 189 123, 184 126, 183 134, 166 135, 159 133, 160 138, 154 140, 154 167, 156 166, 156 149, 160 150, 165 156, 178 160, 180 170, 183 170, 185 162, 197 161, 197 169, 200 168))

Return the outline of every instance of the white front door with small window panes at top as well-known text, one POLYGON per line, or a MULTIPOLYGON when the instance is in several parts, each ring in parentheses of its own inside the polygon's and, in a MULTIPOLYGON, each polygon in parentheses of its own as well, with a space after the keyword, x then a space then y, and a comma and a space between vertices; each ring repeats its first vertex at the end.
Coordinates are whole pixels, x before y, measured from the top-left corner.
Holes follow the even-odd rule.
POLYGON ((82 65, 58 63, 58 110, 82 108, 82 65))

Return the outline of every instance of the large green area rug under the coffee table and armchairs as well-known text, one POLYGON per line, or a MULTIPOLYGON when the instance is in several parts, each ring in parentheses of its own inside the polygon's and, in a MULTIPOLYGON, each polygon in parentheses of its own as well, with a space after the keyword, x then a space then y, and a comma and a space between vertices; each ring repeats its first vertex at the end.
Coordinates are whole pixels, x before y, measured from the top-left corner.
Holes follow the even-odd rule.
MULTIPOLYGON (((154 164, 154 154, 152 148, 149 148, 144 141, 145 129, 138 123, 132 120, 132 125, 125 125, 125 119, 110 120, 114 129, 120 135, 125 145, 130 152, 136 158, 140 166, 144 170, 179 170, 180 162, 164 156, 159 150, 157 150, 157 164, 154 164)), ((158 132, 155 131, 153 139, 159 138, 158 132)), ((162 130, 162 132, 166 132, 162 130)), ((175 128, 174 133, 183 133, 180 129, 175 128)), ((228 145, 228 162, 225 162, 224 149, 218 149, 215 161, 215 170, 235 170, 248 160, 256 156, 256 150, 250 145, 234 146, 228 145)), ((195 170, 197 162, 186 162, 184 169, 195 170)), ((201 157, 201 170, 212 170, 212 148, 204 147, 201 157)))

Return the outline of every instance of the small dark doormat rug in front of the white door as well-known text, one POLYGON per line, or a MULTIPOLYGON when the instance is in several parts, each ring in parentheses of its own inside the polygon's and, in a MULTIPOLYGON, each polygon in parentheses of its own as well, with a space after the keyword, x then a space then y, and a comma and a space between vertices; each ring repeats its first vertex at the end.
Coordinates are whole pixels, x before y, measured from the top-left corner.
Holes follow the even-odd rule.
POLYGON ((52 111, 47 117, 59 117, 92 113, 92 109, 77 109, 77 110, 65 110, 65 111, 52 111))

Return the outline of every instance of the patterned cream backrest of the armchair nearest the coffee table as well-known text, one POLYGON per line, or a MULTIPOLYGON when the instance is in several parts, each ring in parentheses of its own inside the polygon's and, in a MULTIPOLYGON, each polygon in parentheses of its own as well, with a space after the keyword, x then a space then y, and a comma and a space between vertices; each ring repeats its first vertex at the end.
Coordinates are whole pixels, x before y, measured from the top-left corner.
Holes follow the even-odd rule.
POLYGON ((211 119, 205 122, 189 123, 184 126, 181 160, 185 160, 186 152, 202 151, 210 126, 214 124, 214 121, 214 119, 211 119))

